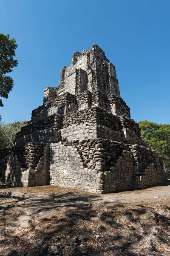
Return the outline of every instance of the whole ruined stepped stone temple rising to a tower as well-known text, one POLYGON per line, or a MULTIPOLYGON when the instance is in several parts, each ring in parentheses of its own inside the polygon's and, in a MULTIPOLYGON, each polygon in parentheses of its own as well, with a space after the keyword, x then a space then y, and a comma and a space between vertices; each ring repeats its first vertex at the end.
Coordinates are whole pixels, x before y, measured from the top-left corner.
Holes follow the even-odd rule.
POLYGON ((97 45, 75 52, 58 87, 0 152, 0 184, 57 185, 108 193, 166 183, 161 160, 146 148, 120 97, 116 70, 97 45))

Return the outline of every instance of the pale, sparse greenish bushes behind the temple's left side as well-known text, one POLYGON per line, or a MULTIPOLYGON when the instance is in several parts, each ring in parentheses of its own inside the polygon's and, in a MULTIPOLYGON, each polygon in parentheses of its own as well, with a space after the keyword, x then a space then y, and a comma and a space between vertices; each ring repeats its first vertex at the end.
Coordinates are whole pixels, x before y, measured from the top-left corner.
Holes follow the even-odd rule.
POLYGON ((14 145, 15 134, 21 130, 21 127, 27 125, 27 121, 5 124, 0 122, 0 149, 11 148, 14 145))

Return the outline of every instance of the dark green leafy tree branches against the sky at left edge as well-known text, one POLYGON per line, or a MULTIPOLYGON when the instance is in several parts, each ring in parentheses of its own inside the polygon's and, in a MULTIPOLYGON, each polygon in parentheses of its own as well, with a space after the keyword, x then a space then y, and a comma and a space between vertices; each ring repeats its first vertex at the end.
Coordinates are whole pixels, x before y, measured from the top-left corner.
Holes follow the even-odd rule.
MULTIPOLYGON (((0 97, 8 98, 8 93, 12 90, 14 80, 11 76, 13 67, 17 67, 18 61, 14 60, 15 50, 17 49, 16 40, 9 39, 9 35, 0 34, 0 97)), ((2 99, 0 99, 0 107, 3 107, 2 99)))

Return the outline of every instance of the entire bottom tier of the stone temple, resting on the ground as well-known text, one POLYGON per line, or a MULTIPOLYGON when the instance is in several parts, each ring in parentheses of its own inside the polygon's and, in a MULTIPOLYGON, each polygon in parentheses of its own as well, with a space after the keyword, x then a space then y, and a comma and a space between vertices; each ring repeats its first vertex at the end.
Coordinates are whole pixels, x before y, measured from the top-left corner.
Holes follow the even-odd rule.
POLYGON ((0 152, 0 184, 58 185, 107 193, 166 183, 155 152, 108 139, 28 143, 0 152))

